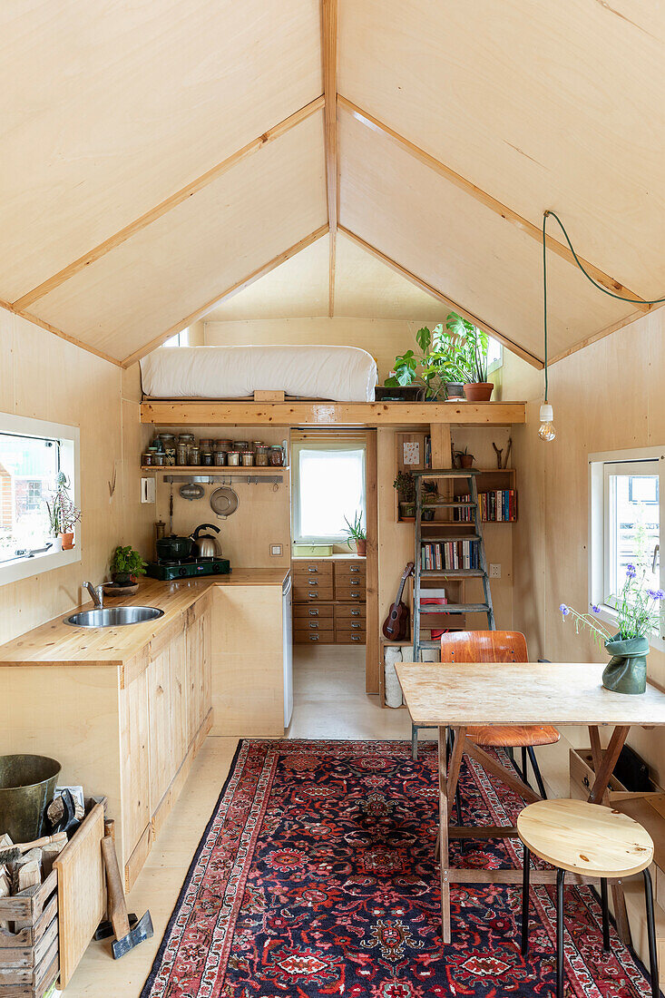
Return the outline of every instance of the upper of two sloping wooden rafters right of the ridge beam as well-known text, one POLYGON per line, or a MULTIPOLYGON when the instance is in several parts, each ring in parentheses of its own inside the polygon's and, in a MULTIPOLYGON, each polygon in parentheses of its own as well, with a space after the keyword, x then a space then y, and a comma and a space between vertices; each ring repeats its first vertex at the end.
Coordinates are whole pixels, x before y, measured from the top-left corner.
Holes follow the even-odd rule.
MULTIPOLYGON (((434 173, 438 174, 440 177, 443 177, 451 184, 454 184, 455 187, 470 195, 471 198, 479 201, 481 205, 485 206, 485 208, 490 209, 490 211, 494 212, 496 215, 499 215, 502 219, 505 219, 506 222, 511 223, 511 225, 515 226, 517 229, 521 230, 521 232, 525 233, 527 236, 530 236, 531 239, 542 245, 542 230, 539 226, 535 226, 527 219, 523 219, 521 215, 517 214, 517 212, 513 212, 512 209, 502 205, 500 201, 496 200, 496 198, 492 198, 491 195, 487 194, 481 188, 476 187, 476 185, 472 184, 471 181, 466 180, 465 177, 462 177, 450 167, 446 167, 444 163, 436 160, 433 156, 430 156, 429 153, 425 153, 424 150, 419 148, 419 146, 409 142, 409 140, 405 139, 404 136, 399 135, 398 132, 395 132, 377 118, 373 118, 371 115, 367 114, 366 111, 358 108, 357 105, 353 104, 351 101, 346 100, 346 98, 342 97, 341 94, 337 96, 337 103, 345 111, 351 114, 356 121, 361 122, 363 125, 373 129, 375 132, 380 132, 382 135, 387 136, 388 139, 391 139, 392 142, 394 142, 405 152, 409 153, 415 159, 419 160, 420 163, 424 164, 424 166, 428 167, 430 170, 433 170, 434 173)), ((558 256, 561 256, 562 259, 567 260, 569 263, 573 263, 575 266, 577 265, 572 252, 566 244, 559 243, 558 240, 555 240, 549 235, 547 235, 545 239, 548 250, 555 252, 558 256)), ((601 270, 600 267, 595 266, 594 263, 589 262, 589 260, 585 259, 579 253, 577 255, 591 276, 597 280, 599 284, 602 284, 603 287, 613 291, 615 294, 623 294, 625 297, 634 298, 637 302, 636 307, 640 308, 642 311, 648 311, 650 309, 651 305, 647 304, 647 302, 644 301, 639 294, 636 294, 635 291, 631 291, 629 287, 625 287, 619 280, 616 280, 615 277, 611 277, 609 274, 605 273, 604 270, 601 270)))

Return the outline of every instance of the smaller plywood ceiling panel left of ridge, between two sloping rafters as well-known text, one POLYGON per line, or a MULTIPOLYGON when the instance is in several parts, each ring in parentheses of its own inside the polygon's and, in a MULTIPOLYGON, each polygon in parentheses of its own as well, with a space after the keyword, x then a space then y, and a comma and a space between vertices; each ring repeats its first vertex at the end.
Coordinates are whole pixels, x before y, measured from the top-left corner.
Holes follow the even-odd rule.
POLYGON ((33 311, 123 359, 324 225, 324 171, 320 113, 55 288, 33 311))

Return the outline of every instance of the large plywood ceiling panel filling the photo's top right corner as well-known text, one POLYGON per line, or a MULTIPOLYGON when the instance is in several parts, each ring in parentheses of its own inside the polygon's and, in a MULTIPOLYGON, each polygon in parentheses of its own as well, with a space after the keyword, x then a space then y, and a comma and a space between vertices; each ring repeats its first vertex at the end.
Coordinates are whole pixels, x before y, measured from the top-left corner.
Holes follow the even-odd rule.
POLYGON ((341 0, 339 92, 644 297, 665 288, 665 9, 341 0), (556 235, 555 227, 552 227, 556 235))

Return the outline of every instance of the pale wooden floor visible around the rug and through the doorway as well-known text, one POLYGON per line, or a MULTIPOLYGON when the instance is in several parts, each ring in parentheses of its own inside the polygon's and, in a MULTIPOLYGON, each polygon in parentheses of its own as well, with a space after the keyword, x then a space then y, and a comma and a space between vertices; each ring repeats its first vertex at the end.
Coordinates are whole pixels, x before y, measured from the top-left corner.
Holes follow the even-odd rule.
MULTIPOLYGON (((377 697, 365 695, 363 648, 297 647, 295 660, 290 738, 410 739, 406 711, 381 710, 377 697)), ((119 961, 107 943, 91 943, 66 998, 138 998, 237 745, 236 738, 207 739, 129 895, 139 917, 150 909, 155 937, 119 961)))

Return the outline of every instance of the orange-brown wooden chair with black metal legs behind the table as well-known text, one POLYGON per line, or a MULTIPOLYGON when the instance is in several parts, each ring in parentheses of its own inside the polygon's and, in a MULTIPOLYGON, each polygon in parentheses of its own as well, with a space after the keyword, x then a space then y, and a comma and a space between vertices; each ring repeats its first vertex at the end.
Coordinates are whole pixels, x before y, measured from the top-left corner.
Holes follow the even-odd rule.
MULTIPOLYGON (((526 638, 519 631, 449 631, 441 635, 441 662, 528 662, 526 638)), ((468 728, 466 738, 481 749, 510 749, 510 760, 519 776, 528 782, 527 756, 541 797, 545 784, 535 756, 535 746, 554 745, 561 736, 551 725, 518 725, 510 728, 468 728), (522 771, 512 758, 512 749, 522 749, 522 771)), ((461 824, 459 795, 457 820, 461 824)))

